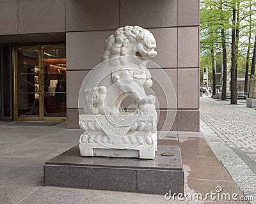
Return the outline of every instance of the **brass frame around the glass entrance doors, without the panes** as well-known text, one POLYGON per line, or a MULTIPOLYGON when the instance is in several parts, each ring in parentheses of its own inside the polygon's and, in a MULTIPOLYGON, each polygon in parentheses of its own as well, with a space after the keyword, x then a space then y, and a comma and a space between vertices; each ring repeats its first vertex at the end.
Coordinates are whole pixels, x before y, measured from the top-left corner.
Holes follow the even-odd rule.
POLYGON ((13 98, 14 98, 14 120, 22 121, 66 121, 67 117, 45 117, 44 116, 44 50, 46 49, 58 49, 66 48, 65 45, 44 45, 44 46, 26 46, 26 47, 14 47, 13 48, 13 98), (39 116, 38 117, 19 117, 18 116, 18 50, 38 50, 38 67, 39 67, 39 116))

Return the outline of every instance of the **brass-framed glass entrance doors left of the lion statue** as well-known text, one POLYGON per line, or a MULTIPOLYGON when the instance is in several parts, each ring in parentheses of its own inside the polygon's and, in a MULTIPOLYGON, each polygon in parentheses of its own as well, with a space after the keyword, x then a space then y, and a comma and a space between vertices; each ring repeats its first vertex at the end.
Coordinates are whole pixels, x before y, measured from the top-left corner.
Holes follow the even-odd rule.
POLYGON ((17 47, 14 54, 15 120, 65 120, 65 46, 17 47))

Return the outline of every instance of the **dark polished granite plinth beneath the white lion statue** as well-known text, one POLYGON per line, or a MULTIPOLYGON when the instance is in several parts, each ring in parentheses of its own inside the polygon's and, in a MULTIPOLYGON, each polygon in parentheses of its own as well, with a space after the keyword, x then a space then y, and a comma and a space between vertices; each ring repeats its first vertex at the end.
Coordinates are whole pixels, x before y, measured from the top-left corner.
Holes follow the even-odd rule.
POLYGON ((133 193, 183 193, 179 146, 159 145, 155 159, 81 157, 76 145, 44 165, 45 186, 133 193), (161 156, 171 152, 174 156, 161 156))

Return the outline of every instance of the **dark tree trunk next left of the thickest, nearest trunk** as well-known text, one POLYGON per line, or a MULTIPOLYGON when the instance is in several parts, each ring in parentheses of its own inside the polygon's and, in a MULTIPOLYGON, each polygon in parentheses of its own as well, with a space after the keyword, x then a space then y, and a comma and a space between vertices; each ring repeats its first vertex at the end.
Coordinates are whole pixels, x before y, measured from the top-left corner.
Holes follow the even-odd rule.
POLYGON ((223 55, 223 76, 221 100, 227 99, 227 49, 225 41, 225 31, 221 28, 222 55, 223 55))

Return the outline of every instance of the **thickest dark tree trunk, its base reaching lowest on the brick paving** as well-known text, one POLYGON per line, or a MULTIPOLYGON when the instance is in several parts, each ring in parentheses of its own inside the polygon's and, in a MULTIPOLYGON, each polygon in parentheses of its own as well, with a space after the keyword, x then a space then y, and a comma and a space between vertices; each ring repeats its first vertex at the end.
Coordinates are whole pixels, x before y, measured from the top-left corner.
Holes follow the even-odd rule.
POLYGON ((231 41, 231 104, 237 104, 236 94, 236 8, 233 8, 231 41))

